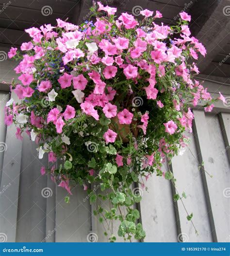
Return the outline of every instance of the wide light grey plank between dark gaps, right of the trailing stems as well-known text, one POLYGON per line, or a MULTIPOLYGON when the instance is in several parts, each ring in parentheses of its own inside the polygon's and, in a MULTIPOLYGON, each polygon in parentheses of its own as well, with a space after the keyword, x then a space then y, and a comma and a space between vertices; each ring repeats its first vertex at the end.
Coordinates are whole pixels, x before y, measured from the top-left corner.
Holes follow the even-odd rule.
POLYGON ((219 154, 225 148, 218 117, 195 110, 195 136, 199 161, 204 161, 203 185, 210 213, 214 241, 229 237, 229 181, 230 166, 227 154, 219 154))

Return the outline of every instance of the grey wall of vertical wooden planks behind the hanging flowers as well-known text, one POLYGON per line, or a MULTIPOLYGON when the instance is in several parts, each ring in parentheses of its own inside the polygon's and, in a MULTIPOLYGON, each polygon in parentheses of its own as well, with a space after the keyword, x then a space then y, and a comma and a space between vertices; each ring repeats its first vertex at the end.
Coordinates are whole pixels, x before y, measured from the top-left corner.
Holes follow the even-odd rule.
MULTIPOLYGON (((193 212, 198 236, 181 201, 173 201, 170 182, 153 175, 138 205, 146 242, 230 239, 230 87, 213 81, 206 81, 205 86, 214 95, 222 91, 228 104, 218 102, 211 114, 194 110, 189 149, 176 156, 170 166, 177 190, 187 195, 184 204, 189 213, 193 212)), ((5 128, 3 108, 9 97, 7 91, 0 92, 0 142, 7 145, 7 150, 0 152, 0 238, 8 242, 86 242, 88 234, 94 233, 99 242, 107 241, 82 187, 73 189, 67 204, 66 191, 41 176, 40 167, 47 159, 38 159, 36 145, 27 135, 22 142, 16 140, 14 126, 5 128), (42 196, 43 189, 48 190, 49 197, 42 196)))

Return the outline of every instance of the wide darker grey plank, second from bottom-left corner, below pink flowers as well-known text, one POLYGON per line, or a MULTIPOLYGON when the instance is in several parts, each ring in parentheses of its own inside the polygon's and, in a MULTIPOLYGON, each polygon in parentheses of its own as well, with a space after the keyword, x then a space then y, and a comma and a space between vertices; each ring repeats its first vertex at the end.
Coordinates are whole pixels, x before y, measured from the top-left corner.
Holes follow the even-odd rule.
MULTIPOLYGON (((40 173, 47 165, 47 154, 38 159, 38 146, 27 134, 23 136, 21 172, 18 194, 16 242, 41 242, 46 238, 46 201, 42 189, 47 187, 47 176, 40 173)), ((49 194, 47 194, 49 196, 49 194)), ((51 196, 51 193, 50 193, 51 196)))

